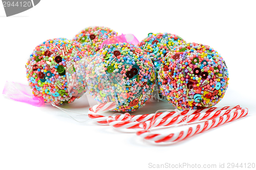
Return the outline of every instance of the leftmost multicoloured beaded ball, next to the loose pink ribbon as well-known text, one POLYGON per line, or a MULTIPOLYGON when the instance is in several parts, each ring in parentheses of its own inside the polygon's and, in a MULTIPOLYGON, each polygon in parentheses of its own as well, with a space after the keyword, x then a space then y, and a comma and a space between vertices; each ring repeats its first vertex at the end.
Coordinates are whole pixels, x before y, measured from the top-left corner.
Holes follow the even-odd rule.
POLYGON ((35 47, 26 64, 29 86, 46 103, 71 103, 86 91, 86 51, 66 38, 49 39, 35 47))

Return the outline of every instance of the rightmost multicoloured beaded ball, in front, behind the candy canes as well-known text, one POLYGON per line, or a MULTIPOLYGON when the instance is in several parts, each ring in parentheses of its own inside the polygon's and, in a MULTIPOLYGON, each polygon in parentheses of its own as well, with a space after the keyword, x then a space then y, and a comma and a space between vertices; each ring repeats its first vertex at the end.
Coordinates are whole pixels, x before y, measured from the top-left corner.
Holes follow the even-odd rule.
POLYGON ((180 110, 209 108, 228 87, 225 61, 208 45, 174 46, 162 60, 158 81, 162 94, 180 110))

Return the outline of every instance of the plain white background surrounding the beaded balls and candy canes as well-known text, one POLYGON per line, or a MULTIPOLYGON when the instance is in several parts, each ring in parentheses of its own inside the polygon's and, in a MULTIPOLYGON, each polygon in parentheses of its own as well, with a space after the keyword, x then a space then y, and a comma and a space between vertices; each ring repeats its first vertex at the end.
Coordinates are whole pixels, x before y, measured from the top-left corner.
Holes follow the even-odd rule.
MULTIPOLYGON (((256 163, 254 2, 44 0, 11 17, 0 7, 0 91, 5 81, 27 85, 25 64, 37 44, 105 26, 132 33, 139 41, 150 32, 168 32, 210 45, 226 61, 230 75, 217 106, 249 109, 234 122, 173 145, 157 145, 92 120, 77 123, 51 105, 38 108, 1 94, 0 169, 152 169, 148 163, 217 164, 218 169, 220 163, 256 163)), ((84 95, 63 107, 87 113, 90 106, 84 95)), ((168 108, 173 109, 153 101, 132 114, 168 108)))

